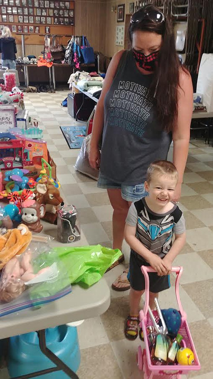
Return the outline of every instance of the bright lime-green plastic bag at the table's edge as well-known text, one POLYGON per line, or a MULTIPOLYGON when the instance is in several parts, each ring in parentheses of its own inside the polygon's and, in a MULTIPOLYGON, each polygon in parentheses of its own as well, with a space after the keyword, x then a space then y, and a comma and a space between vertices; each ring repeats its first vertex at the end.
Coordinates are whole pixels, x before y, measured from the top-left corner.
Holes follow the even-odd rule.
POLYGON ((107 269, 122 255, 121 251, 101 245, 58 247, 54 249, 67 268, 70 283, 87 287, 98 282, 107 269))

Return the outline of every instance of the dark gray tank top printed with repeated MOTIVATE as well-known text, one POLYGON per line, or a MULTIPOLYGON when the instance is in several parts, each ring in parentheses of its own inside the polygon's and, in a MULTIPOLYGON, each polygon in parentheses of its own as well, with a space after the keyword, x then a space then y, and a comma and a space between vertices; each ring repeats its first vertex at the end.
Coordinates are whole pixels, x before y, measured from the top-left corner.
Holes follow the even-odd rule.
POLYGON ((152 79, 138 70, 131 50, 124 52, 105 96, 100 171, 119 184, 143 183, 149 164, 167 158, 172 136, 157 121, 152 79))

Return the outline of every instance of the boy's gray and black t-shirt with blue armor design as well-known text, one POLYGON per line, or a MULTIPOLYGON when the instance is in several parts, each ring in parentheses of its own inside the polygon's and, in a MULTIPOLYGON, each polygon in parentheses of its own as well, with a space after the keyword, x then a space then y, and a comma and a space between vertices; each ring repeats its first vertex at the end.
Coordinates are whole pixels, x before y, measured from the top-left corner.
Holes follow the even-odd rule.
POLYGON ((167 213, 158 214, 150 210, 146 198, 132 203, 126 223, 137 226, 136 237, 152 253, 164 258, 172 246, 172 236, 185 232, 185 220, 180 208, 174 207, 167 213))

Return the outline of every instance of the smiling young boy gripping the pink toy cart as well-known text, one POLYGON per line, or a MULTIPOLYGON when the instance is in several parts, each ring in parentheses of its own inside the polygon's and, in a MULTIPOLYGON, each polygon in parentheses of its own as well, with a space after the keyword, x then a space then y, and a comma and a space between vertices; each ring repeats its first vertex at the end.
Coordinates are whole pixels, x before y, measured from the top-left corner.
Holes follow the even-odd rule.
POLYGON ((139 302, 145 289, 141 266, 152 266, 157 273, 149 273, 149 305, 155 308, 158 292, 170 287, 172 262, 185 244, 185 221, 179 207, 172 202, 178 174, 169 161, 156 161, 147 170, 144 187, 149 196, 132 203, 125 225, 125 240, 131 248, 130 315, 125 322, 125 336, 138 336, 139 302), (175 241, 172 244, 172 236, 175 241))

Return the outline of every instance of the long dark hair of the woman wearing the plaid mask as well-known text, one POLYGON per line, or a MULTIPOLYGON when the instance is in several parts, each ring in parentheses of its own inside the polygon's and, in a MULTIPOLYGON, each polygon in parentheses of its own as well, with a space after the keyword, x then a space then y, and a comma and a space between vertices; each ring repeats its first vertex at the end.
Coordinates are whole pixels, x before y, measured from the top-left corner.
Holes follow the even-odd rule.
MULTIPOLYGON (((143 8, 147 11, 160 11, 154 5, 143 8)), ((164 130, 170 132, 177 125, 177 101, 180 87, 179 75, 181 63, 175 50, 174 31, 171 22, 166 19, 161 23, 150 20, 148 17, 141 22, 130 24, 129 38, 136 30, 149 31, 161 34, 162 44, 155 69, 154 78, 150 86, 150 94, 157 106, 158 119, 164 130)), ((182 67, 187 72, 187 70, 182 67)))

